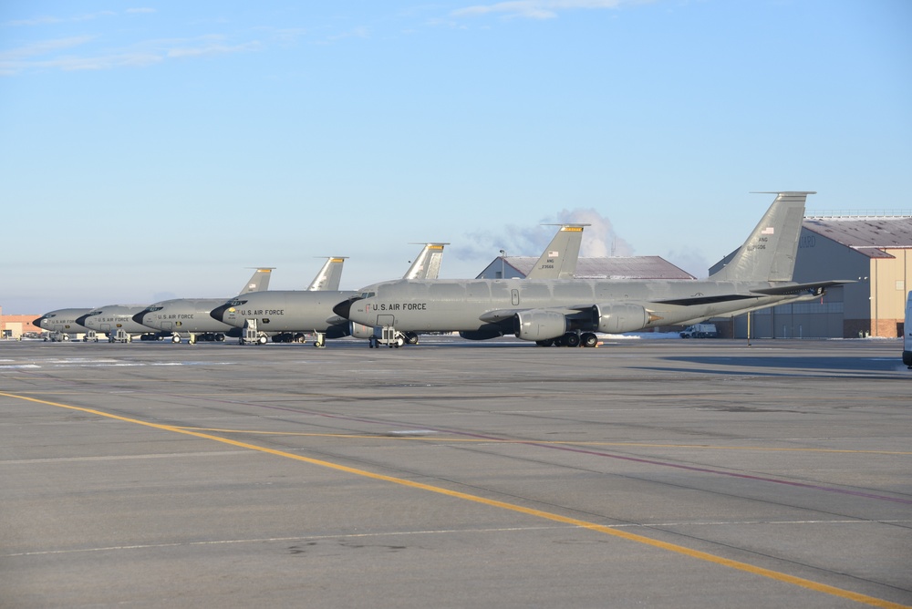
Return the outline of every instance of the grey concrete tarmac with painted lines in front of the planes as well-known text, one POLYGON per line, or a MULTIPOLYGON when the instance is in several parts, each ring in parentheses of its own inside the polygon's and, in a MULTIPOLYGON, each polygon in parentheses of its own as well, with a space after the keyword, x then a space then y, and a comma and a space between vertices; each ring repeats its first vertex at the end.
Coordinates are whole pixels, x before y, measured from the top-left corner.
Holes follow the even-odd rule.
POLYGON ((0 607, 912 605, 901 350, 0 344, 0 607))

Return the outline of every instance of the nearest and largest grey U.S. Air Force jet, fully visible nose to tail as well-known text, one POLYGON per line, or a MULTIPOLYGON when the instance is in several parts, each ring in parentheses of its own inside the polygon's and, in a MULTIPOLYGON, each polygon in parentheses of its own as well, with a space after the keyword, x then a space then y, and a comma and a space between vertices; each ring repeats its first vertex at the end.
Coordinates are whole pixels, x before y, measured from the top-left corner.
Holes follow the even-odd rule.
MULTIPOLYGON (((716 315, 819 297, 845 281, 792 281, 804 201, 776 194, 731 262, 705 281, 600 279, 399 280, 368 286, 333 312, 397 332, 516 335, 540 346, 596 346, 596 332, 695 324, 716 315)), ((393 345, 390 345, 393 346, 393 345)))

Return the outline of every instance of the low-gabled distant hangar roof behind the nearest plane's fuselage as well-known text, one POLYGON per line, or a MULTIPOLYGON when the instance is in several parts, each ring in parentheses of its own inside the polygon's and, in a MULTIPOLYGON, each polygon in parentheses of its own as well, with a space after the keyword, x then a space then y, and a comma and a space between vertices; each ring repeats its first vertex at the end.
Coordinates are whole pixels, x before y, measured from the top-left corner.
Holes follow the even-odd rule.
MULTIPOLYGON (((512 279, 532 271, 537 256, 498 256, 476 279, 512 279)), ((659 256, 580 258, 575 276, 580 279, 684 279, 695 277, 659 256)))

